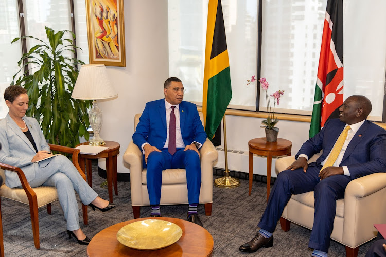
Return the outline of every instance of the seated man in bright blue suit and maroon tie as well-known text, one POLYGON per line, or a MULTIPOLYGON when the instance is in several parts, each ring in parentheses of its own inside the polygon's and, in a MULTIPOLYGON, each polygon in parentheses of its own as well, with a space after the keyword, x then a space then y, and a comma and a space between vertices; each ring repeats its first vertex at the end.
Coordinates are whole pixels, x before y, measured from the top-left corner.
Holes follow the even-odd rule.
POLYGON ((182 101, 184 90, 181 80, 176 77, 165 81, 165 98, 146 103, 133 134, 133 142, 142 149, 144 167, 147 166, 150 216, 161 216, 162 171, 181 168, 186 170, 188 221, 202 226, 197 215, 201 187, 198 149, 205 142, 206 133, 197 106, 182 101))

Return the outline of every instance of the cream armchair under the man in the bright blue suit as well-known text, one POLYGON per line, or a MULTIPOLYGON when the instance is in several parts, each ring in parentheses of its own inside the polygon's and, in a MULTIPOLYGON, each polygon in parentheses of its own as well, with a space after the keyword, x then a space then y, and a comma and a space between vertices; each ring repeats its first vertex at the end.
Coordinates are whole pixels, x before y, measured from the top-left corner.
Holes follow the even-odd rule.
MULTIPOLYGON (((203 121, 203 114, 199 112, 203 121)), ((141 114, 134 117, 134 130, 141 114)), ((199 201, 205 206, 205 215, 212 215, 213 165, 218 153, 212 142, 206 139, 201 146, 201 190, 199 201)), ((124 154, 124 161, 130 165, 131 205, 134 218, 139 218, 141 206, 150 205, 146 185, 146 169, 143 168, 142 151, 131 141, 124 154)), ((188 204, 185 169, 167 169, 162 172, 161 205, 188 204)))

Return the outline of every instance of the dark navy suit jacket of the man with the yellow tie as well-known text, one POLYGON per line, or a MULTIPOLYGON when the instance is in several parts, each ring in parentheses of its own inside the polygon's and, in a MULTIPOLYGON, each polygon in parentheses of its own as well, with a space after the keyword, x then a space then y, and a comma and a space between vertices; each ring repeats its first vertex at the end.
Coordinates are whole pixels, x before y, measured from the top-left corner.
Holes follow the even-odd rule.
MULTIPOLYGON (((345 126, 339 119, 326 122, 322 130, 308 139, 296 154, 306 154, 311 158, 323 150, 317 159, 320 164, 331 151, 345 126)), ((386 172, 386 131, 380 126, 365 120, 347 146, 340 166, 347 166, 352 179, 375 172, 386 172)))

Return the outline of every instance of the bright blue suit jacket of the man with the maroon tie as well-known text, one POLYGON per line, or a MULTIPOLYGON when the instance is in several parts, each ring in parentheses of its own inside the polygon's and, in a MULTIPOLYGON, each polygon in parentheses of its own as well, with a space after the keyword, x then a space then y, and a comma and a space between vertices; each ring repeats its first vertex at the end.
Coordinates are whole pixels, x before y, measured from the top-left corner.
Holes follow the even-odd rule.
MULTIPOLYGON (((182 101, 179 106, 181 135, 185 145, 196 141, 203 144, 206 133, 195 104, 182 101)), ((158 149, 163 149, 166 134, 165 100, 160 99, 146 103, 144 112, 139 118, 133 142, 141 149, 144 143, 149 143, 158 149)))

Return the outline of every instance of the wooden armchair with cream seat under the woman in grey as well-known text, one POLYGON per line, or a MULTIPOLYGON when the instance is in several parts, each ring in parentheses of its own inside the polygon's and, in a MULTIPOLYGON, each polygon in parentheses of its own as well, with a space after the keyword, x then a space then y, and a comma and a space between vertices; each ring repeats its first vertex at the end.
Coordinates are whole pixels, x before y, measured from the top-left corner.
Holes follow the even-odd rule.
MULTIPOLYGON (((78 163, 78 154, 80 152, 79 149, 69 148, 66 146, 60 146, 55 144, 48 144, 48 145, 51 151, 58 151, 62 153, 72 154, 74 166, 77 168, 77 170, 79 171, 83 179, 86 180, 86 176, 84 175, 83 171, 80 169, 80 166, 78 163)), ((40 240, 39 240, 38 208, 46 205, 47 212, 48 214, 50 214, 51 203, 53 201, 58 200, 57 190, 55 187, 48 187, 48 186, 31 188, 22 169, 13 167, 7 164, 3 164, 3 163, 0 163, 0 168, 2 169, 0 170, 0 176, 3 177, 4 182, 5 182, 4 170, 16 172, 22 182, 23 188, 9 188, 5 185, 5 183, 3 183, 3 185, 0 186, 0 196, 29 205, 29 211, 31 214, 33 241, 35 244, 35 248, 39 249, 40 240)), ((82 204, 82 210, 83 210, 83 222, 84 224, 88 224, 87 206, 82 204)), ((1 202, 0 202, 0 215, 1 215, 1 202)), ((2 239, 1 237, 0 239, 2 239)), ((3 243, 3 240, 1 243, 3 243)))

